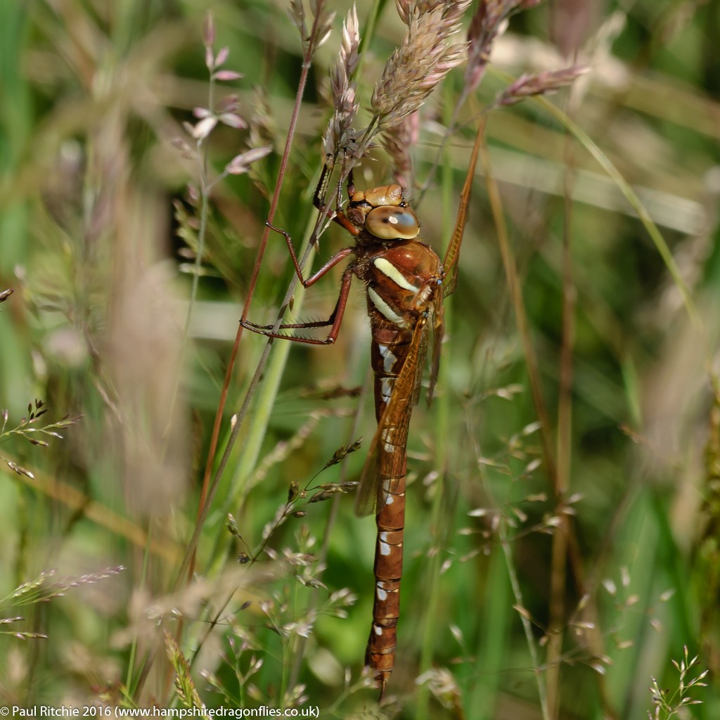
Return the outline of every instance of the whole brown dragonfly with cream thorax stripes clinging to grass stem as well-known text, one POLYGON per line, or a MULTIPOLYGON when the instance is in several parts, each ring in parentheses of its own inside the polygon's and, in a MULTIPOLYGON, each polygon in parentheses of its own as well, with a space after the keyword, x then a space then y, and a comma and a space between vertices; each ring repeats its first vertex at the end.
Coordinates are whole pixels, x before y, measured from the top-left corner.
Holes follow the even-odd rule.
MULTIPOLYGON (((372 670, 382 698, 395 665, 397 621, 400 616, 402 536, 405 526, 405 473, 410 415, 418 400, 428 345, 433 331, 433 360, 428 400, 437 377, 440 345, 444 333, 443 300, 454 291, 457 261, 480 149, 477 135, 465 179, 454 233, 444 261, 420 241, 418 218, 400 185, 383 185, 364 191, 354 187, 348 174, 348 204, 337 208, 332 219, 355 238, 307 280, 297 261, 292 238, 284 235, 300 282, 315 284, 348 256, 354 256, 343 272, 335 310, 327 320, 289 323, 274 329, 244 321, 243 327, 273 338, 312 345, 334 343, 345 312, 353 276, 364 284, 372 333, 372 368, 377 432, 369 447, 355 501, 359 516, 375 513, 375 595, 372 628, 365 663, 372 670), (287 330, 330 328, 326 338, 288 336, 287 330)), ((328 168, 323 169, 314 204, 323 210, 321 198, 328 168)))

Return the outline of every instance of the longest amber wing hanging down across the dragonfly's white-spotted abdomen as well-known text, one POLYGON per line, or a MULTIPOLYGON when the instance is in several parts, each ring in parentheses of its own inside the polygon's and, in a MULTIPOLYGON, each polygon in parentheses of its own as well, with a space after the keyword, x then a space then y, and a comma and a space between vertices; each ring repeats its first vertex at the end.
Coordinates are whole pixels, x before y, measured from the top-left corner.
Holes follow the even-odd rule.
POLYGON ((410 416, 418 397, 423 377, 428 318, 418 320, 413 331, 408 356, 395 379, 392 397, 377 423, 377 431, 368 448, 367 459, 360 474, 360 484, 355 498, 355 514, 370 515, 382 505, 388 490, 383 487, 384 478, 405 477, 410 416))

